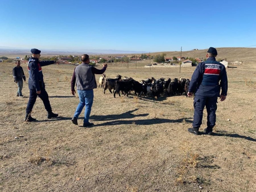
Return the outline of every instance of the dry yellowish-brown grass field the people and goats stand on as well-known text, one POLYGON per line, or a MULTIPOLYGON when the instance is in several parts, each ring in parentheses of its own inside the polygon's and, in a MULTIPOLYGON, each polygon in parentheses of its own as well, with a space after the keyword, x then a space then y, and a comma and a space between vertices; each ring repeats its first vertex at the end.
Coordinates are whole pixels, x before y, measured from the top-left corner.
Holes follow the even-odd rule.
MULTIPOLYGON (((106 75, 190 79, 195 69, 149 71, 143 62, 137 70, 134 63, 109 65, 106 75)), ((0 191, 256 191, 255 63, 227 68, 228 97, 218 103, 214 136, 187 132, 193 98, 113 98, 102 88, 94 90, 94 127, 82 127, 84 111, 79 126, 72 124, 79 102, 70 92, 73 65, 42 67, 59 117, 48 120, 38 98, 32 111, 38 121, 26 123, 28 84, 24 98, 16 97, 13 67, 0 64, 0 191)), ((205 110, 200 131, 206 119, 205 110)))

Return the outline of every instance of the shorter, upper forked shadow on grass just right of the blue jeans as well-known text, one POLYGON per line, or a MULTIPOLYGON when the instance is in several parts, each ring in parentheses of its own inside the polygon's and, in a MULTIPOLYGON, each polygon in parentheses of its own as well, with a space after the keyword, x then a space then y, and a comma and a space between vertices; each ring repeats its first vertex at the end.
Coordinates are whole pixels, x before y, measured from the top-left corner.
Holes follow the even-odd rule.
POLYGON ((95 121, 111 121, 117 119, 132 119, 134 117, 146 117, 149 113, 134 115, 133 112, 137 111, 138 109, 130 110, 121 114, 112 114, 112 115, 92 115, 90 119, 95 121))

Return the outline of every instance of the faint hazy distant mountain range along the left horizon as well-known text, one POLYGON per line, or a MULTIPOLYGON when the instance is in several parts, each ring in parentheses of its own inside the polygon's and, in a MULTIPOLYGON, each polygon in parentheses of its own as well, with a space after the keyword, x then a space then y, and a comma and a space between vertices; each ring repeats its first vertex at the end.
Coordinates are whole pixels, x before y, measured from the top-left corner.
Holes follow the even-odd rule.
MULTIPOLYGON (((147 53, 145 51, 125 51, 125 50, 114 50, 114 49, 40 49, 45 53, 88 53, 88 54, 138 54, 147 53)), ((30 49, 0 46, 0 52, 6 53, 30 53, 30 49)))

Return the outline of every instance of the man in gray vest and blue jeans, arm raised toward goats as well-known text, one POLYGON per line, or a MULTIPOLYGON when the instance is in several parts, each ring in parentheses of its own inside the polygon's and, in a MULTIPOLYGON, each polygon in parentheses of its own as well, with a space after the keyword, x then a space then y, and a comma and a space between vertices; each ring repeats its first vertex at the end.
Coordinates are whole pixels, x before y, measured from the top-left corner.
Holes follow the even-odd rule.
POLYGON ((85 106, 83 127, 89 127, 93 125, 93 123, 89 122, 89 117, 93 103, 93 89, 97 88, 97 82, 94 74, 103 74, 106 71, 108 65, 104 64, 104 67, 102 69, 96 69, 95 67, 89 65, 90 58, 89 55, 86 54, 81 56, 81 60, 82 63, 81 65, 75 68, 71 80, 71 94, 75 96, 76 83, 77 92, 80 100, 75 111, 74 117, 71 119, 71 121, 75 125, 78 125, 78 116, 80 115, 85 106))

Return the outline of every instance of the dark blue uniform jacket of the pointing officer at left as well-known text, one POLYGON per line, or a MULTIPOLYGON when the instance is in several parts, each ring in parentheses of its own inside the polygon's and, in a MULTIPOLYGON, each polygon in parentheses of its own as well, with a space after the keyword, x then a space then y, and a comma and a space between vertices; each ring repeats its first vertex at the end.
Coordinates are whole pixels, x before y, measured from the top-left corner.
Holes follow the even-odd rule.
POLYGON ((37 58, 31 57, 28 61, 28 88, 40 91, 44 86, 44 76, 42 66, 51 65, 54 61, 39 61, 37 58))

